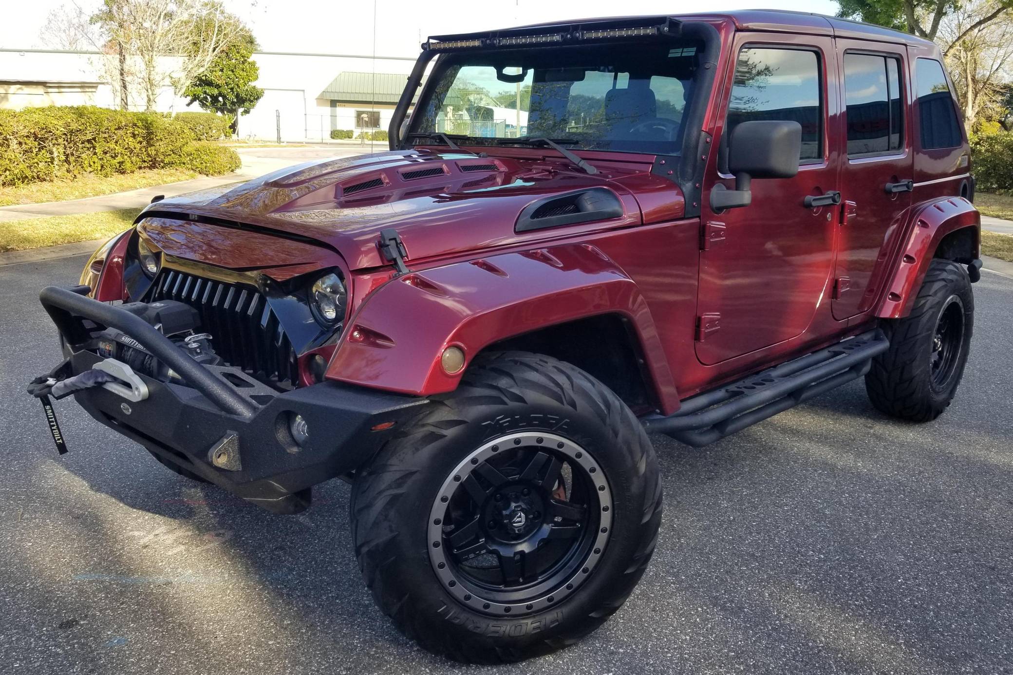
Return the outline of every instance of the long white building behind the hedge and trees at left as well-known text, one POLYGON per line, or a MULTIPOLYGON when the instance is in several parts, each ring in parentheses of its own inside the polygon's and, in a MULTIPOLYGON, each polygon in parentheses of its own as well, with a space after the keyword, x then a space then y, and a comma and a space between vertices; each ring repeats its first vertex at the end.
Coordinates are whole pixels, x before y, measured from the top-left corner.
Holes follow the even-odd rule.
MULTIPOLYGON (((97 52, 0 49, 0 108, 32 105, 114 107, 107 60, 97 52)), ((340 54, 258 52, 256 85, 264 90, 239 119, 239 136, 285 142, 321 141, 335 129, 386 130, 413 59, 340 54)), ((143 109, 132 95, 131 109, 143 109)), ((171 88, 158 94, 158 110, 186 107, 171 88)))

